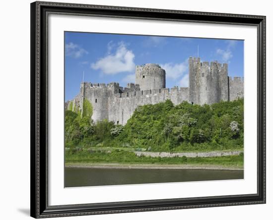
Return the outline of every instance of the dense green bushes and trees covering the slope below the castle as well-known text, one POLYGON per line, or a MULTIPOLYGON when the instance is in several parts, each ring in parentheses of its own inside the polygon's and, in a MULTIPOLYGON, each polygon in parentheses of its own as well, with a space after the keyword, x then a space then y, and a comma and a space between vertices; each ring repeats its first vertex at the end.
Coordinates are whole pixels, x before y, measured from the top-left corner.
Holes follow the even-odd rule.
POLYGON ((125 126, 102 120, 93 123, 92 105, 66 111, 66 147, 132 148, 148 151, 209 151, 243 148, 243 99, 212 105, 170 100, 138 107, 125 126))

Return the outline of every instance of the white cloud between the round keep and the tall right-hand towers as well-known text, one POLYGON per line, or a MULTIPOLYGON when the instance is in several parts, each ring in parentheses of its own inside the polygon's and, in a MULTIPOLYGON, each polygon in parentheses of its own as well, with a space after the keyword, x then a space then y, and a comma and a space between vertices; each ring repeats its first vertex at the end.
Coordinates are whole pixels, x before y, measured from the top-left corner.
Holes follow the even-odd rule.
POLYGON ((165 63, 160 66, 165 69, 167 78, 178 79, 188 71, 188 59, 182 63, 165 63))

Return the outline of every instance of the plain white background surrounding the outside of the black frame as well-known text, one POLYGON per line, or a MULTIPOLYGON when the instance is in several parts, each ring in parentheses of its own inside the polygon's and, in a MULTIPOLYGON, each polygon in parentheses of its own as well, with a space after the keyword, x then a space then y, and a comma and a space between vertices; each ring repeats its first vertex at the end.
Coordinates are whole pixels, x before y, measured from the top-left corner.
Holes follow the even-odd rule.
MULTIPOLYGON (((62 1, 62 0, 59 0, 62 1)), ((30 182, 30 75, 29 75, 29 21, 30 3, 28 0, 4 1, 1 4, 0 24, 0 201, 1 219, 27 219, 29 217, 29 182, 30 182)), ((272 103, 269 97, 272 95, 269 85, 270 77, 269 60, 273 50, 270 42, 270 26, 272 17, 270 13, 273 7, 270 1, 238 1, 229 0, 228 3, 219 3, 213 0, 192 1, 145 1, 145 0, 80 0, 65 2, 120 5, 132 7, 156 7, 166 9, 211 11, 225 13, 258 14, 267 16, 267 158, 272 157, 270 151, 270 123, 269 115, 272 103)), ((267 160, 267 204, 252 206, 217 207, 189 210, 172 210, 160 212, 144 212, 130 214, 112 214, 101 216, 72 217, 69 219, 95 219, 95 220, 125 220, 125 219, 270 219, 269 214, 273 208, 273 194, 270 188, 271 176, 269 171, 272 162, 267 160)), ((65 218, 63 218, 65 219, 65 218)), ((67 219, 67 218, 66 218, 67 219)))

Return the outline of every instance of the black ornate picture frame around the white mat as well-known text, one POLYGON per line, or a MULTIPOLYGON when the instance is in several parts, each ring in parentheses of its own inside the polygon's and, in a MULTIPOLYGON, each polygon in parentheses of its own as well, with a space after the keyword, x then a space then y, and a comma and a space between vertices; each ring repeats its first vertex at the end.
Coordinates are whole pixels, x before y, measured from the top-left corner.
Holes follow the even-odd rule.
POLYGON ((266 16, 36 1, 31 3, 31 190, 30 215, 50 218, 266 203, 266 16), (48 206, 49 13, 253 25, 258 33, 257 194, 48 206))

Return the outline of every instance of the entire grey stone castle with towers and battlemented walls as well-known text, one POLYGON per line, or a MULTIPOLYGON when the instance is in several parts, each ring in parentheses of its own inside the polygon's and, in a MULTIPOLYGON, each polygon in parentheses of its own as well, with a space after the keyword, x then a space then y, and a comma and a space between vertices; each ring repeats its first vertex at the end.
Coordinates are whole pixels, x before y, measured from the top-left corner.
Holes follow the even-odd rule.
POLYGON ((92 119, 114 121, 115 124, 126 124, 138 106, 157 104, 171 100, 174 105, 183 101, 192 104, 213 104, 232 101, 244 96, 244 79, 229 77, 228 65, 217 61, 201 62, 199 57, 189 58, 189 87, 166 87, 166 73, 157 64, 147 63, 136 66, 136 84, 127 87, 119 83, 80 84, 80 93, 65 108, 82 113, 83 100, 87 99, 93 107, 92 119))

